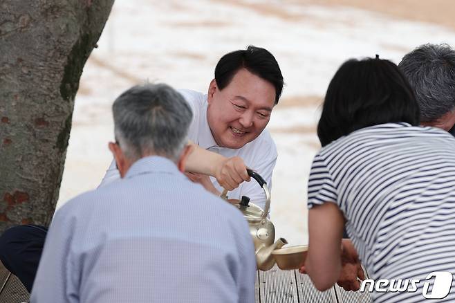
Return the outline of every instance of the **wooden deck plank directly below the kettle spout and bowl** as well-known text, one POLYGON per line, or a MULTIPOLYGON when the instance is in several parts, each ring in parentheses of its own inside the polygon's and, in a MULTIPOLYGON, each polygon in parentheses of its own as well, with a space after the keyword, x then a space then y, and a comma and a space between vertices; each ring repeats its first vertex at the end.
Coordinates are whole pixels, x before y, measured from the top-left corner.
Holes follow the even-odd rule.
POLYGON ((280 270, 276 265, 259 271, 259 297, 261 303, 299 303, 294 271, 280 270))

